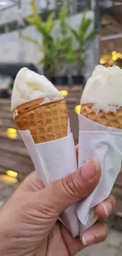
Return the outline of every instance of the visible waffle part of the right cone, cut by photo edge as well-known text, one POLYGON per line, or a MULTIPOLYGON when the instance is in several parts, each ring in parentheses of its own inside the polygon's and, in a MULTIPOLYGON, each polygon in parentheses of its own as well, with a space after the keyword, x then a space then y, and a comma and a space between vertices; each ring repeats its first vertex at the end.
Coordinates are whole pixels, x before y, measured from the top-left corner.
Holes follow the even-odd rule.
POLYGON ((108 127, 122 129, 122 109, 116 110, 116 113, 100 110, 98 114, 92 109, 92 104, 85 104, 81 106, 80 113, 90 119, 91 121, 97 122, 108 127))

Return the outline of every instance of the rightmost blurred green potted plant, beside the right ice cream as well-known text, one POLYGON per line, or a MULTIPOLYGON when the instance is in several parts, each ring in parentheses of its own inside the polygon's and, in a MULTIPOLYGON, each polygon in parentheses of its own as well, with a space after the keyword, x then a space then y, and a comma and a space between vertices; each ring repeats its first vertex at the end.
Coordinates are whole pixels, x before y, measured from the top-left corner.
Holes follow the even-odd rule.
POLYGON ((97 35, 97 31, 94 28, 91 30, 92 22, 90 18, 87 18, 86 12, 84 12, 77 30, 70 28, 77 43, 75 50, 77 73, 76 76, 72 76, 72 83, 74 84, 83 84, 83 68, 87 59, 86 46, 94 39, 94 36, 97 35))

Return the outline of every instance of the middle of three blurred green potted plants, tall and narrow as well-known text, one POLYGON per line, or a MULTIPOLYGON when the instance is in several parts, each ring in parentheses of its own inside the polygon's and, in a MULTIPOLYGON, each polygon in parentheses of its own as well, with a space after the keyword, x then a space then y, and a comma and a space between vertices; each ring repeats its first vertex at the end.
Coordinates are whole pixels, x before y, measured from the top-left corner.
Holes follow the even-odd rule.
POLYGON ((62 1, 63 6, 58 14, 59 17, 59 35, 55 38, 55 50, 57 53, 56 69, 55 69, 55 84, 66 85, 68 78, 72 76, 70 65, 75 59, 74 50, 72 47, 72 35, 67 21, 68 7, 66 1, 62 1))

